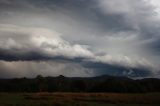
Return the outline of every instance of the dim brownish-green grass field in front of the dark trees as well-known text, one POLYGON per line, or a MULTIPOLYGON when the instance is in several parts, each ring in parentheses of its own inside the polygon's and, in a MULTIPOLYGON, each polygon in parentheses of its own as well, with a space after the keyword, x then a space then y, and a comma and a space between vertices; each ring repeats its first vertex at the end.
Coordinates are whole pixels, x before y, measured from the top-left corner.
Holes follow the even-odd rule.
POLYGON ((0 93, 0 106, 160 106, 160 93, 0 93))

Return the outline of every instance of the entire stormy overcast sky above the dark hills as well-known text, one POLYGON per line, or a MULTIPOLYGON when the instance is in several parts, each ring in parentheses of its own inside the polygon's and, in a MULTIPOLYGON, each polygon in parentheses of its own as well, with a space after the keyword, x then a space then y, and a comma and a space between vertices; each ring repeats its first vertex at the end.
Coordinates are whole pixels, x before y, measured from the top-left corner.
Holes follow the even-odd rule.
POLYGON ((0 77, 160 76, 159 0, 0 0, 0 77))

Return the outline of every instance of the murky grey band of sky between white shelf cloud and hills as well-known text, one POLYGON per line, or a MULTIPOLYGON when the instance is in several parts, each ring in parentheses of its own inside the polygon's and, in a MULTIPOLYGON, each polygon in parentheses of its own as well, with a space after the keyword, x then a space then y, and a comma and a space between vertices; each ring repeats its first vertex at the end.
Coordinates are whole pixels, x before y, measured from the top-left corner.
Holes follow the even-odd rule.
POLYGON ((38 61, 0 61, 0 77, 35 77, 57 76, 92 77, 98 75, 127 76, 131 78, 154 77, 155 73, 146 67, 128 68, 101 62, 84 61, 83 59, 65 59, 57 57, 51 60, 38 61))

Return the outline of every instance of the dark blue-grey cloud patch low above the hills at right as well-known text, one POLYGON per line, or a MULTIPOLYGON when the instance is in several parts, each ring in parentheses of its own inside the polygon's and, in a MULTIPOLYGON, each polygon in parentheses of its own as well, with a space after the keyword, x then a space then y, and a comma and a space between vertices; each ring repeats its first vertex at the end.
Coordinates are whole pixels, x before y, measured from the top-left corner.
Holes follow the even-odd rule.
POLYGON ((154 73, 146 67, 127 68, 124 66, 104 64, 101 62, 87 62, 83 64, 84 67, 91 68, 95 71, 95 75, 113 75, 113 76, 127 76, 127 77, 148 77, 154 76, 154 73))

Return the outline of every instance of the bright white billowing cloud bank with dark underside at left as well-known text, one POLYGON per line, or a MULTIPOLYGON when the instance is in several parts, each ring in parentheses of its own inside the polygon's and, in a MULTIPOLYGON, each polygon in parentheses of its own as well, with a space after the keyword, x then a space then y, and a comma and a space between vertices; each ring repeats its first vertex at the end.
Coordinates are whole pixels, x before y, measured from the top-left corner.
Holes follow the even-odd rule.
POLYGON ((74 58, 90 57, 85 45, 63 40, 59 33, 44 28, 24 28, 1 25, 0 57, 4 60, 34 60, 56 56, 74 58), (39 57, 38 57, 39 56, 39 57))

